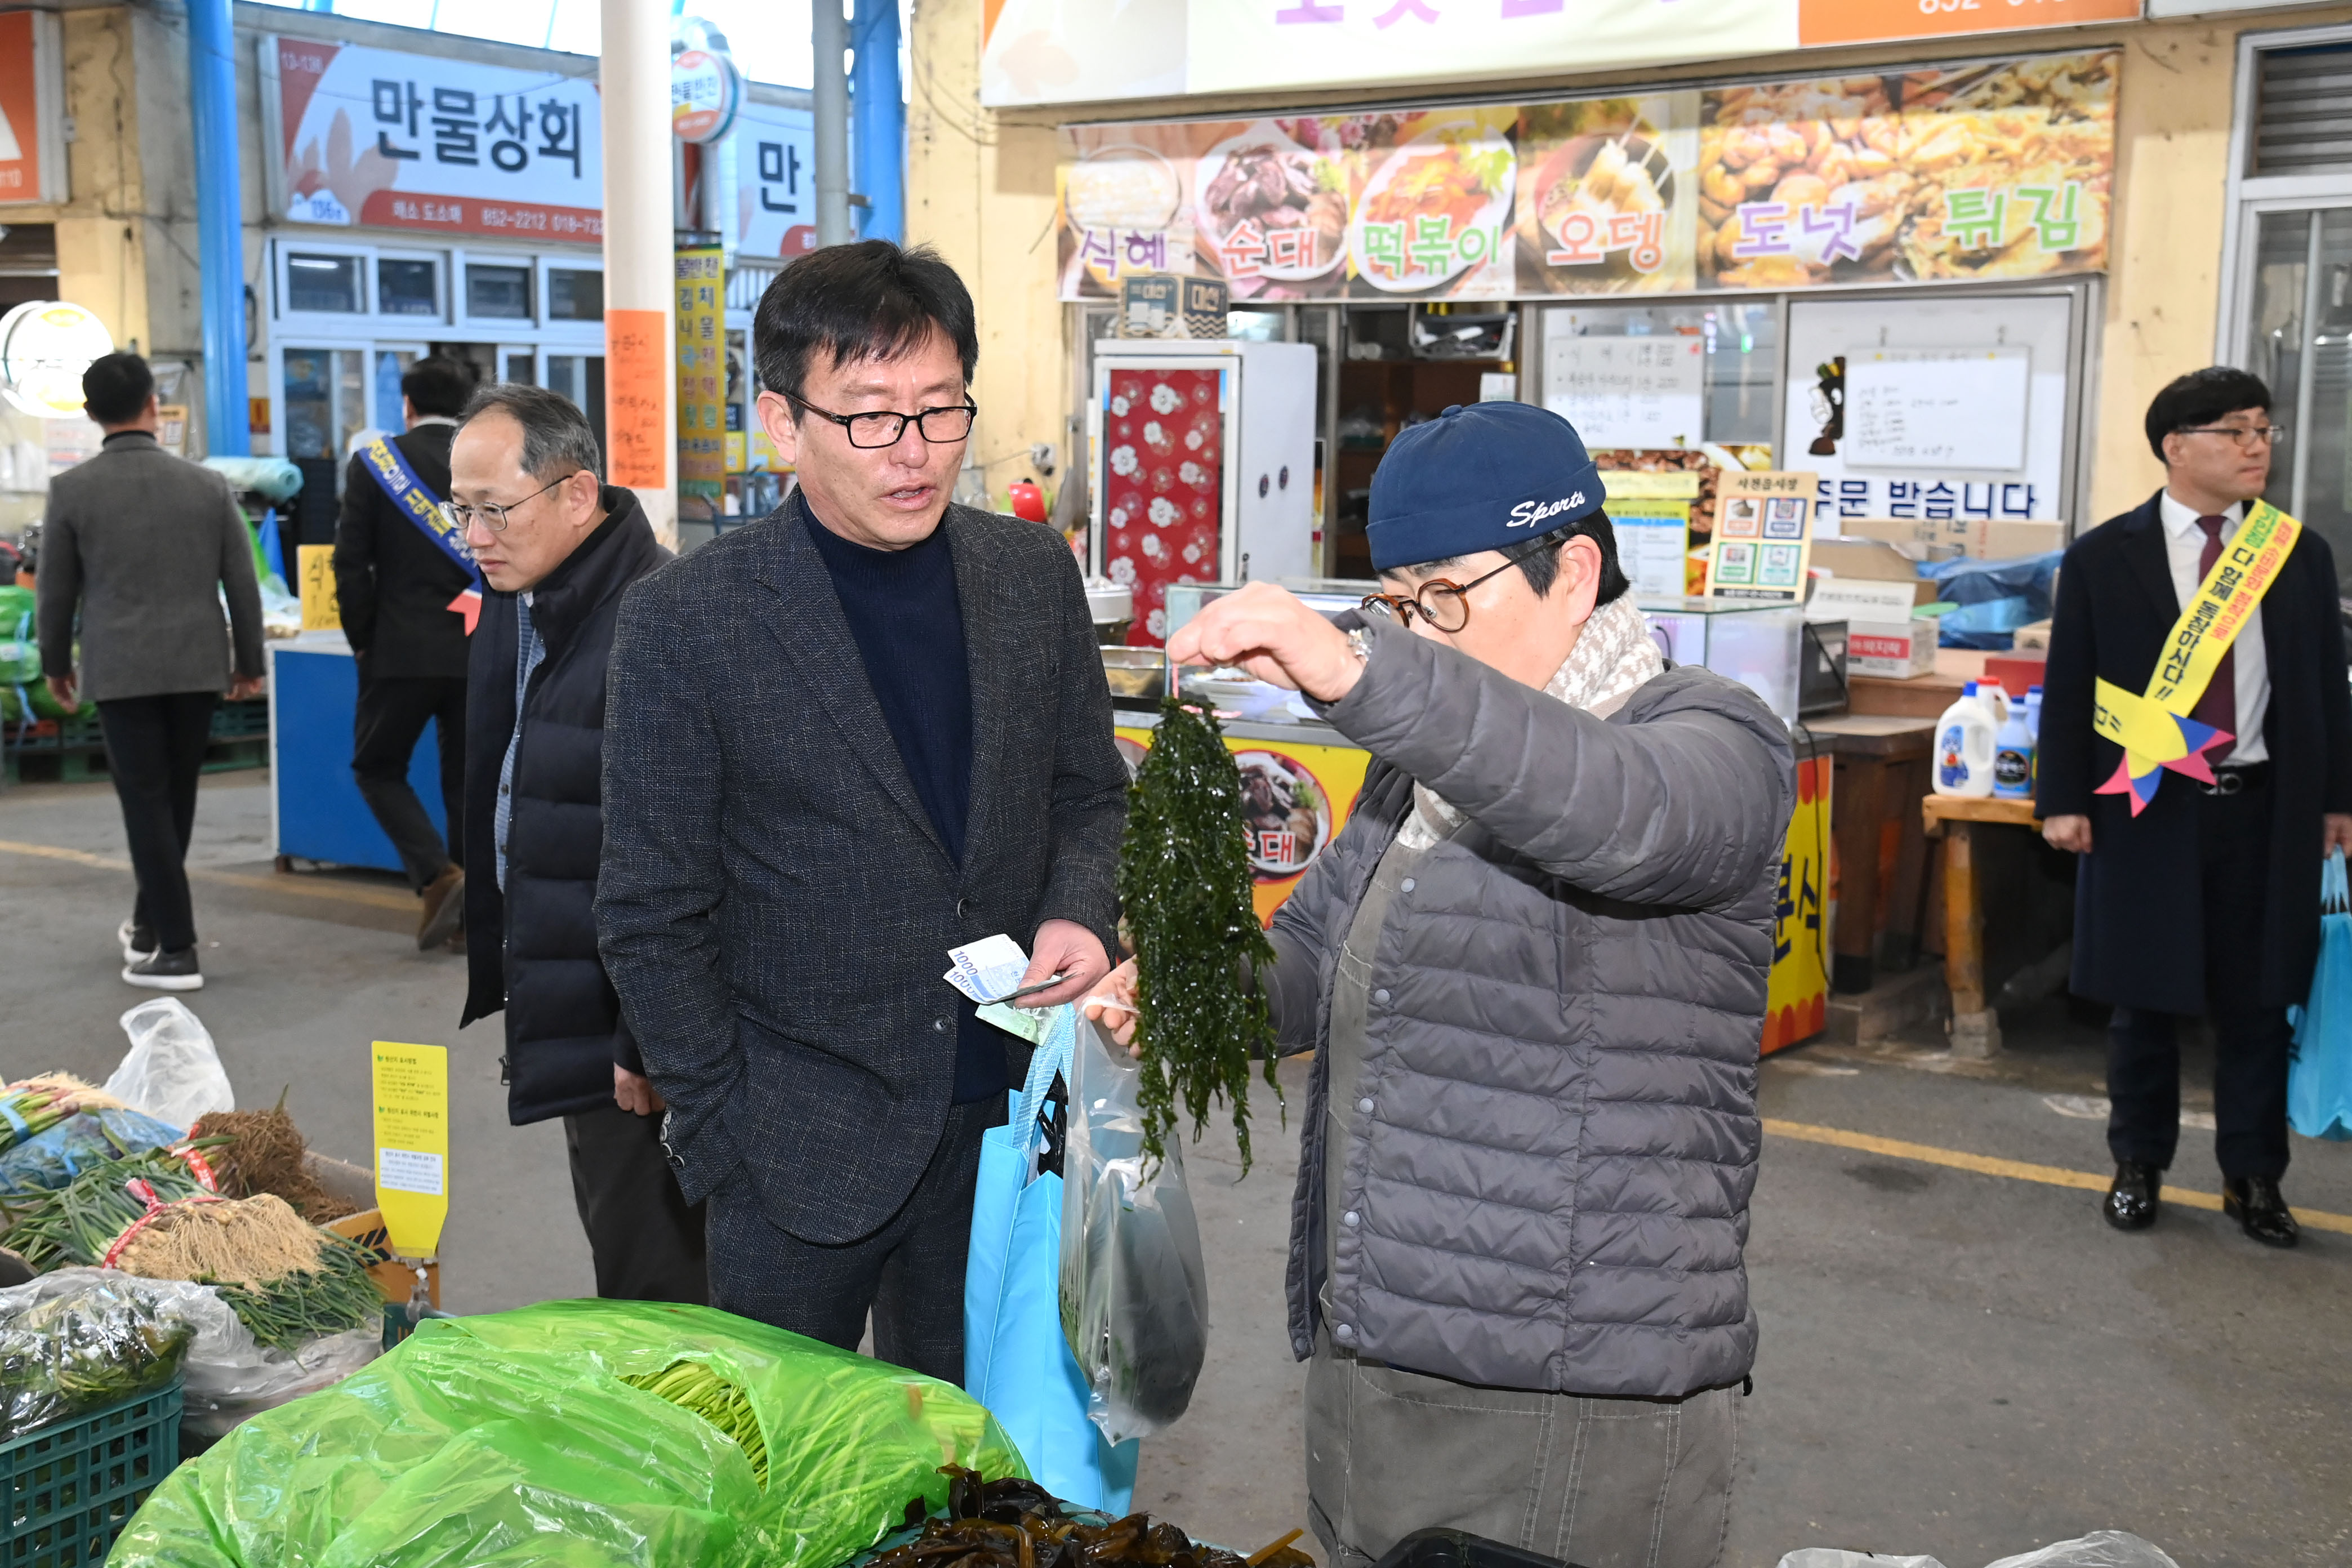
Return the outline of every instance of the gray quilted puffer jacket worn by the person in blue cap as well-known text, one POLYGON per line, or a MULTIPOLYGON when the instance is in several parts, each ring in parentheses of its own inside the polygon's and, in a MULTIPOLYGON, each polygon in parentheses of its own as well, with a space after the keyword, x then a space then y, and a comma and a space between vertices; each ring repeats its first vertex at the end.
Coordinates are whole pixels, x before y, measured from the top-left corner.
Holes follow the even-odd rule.
POLYGON ((1708 670, 1670 668, 1597 719, 1385 628, 1324 717, 1374 766, 1275 917, 1284 1051, 1327 1044, 1338 950, 1414 780, 1468 823, 1371 959, 1341 1206, 1357 1222, 1336 1248, 1317 1053, 1294 1349, 1312 1352, 1334 1255, 1334 1340, 1390 1366, 1649 1399, 1738 1382, 1788 731, 1708 670))

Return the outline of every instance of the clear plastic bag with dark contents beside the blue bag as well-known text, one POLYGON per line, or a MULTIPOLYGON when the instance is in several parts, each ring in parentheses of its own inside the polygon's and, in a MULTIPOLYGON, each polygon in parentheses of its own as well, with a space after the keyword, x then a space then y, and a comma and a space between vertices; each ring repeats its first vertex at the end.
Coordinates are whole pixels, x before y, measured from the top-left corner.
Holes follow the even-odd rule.
POLYGON ((1112 1443, 1150 1436, 1192 1403, 1209 1354, 1209 1272, 1183 1147, 1143 1157, 1141 1070, 1087 1020, 1070 1048, 1063 1150, 1061 1331, 1112 1443))

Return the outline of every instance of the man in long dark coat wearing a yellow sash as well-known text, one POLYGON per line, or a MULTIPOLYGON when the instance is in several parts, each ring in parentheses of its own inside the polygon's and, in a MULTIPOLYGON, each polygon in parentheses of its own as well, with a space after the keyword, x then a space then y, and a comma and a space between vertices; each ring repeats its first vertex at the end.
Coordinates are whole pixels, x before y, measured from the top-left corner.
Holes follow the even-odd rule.
POLYGON ((2321 860, 2352 846, 2336 557, 2260 501, 2279 435, 2246 371, 2157 393, 2164 489, 2058 571, 2037 790, 2044 837, 2082 856, 2074 992, 2114 1004, 2107 1222, 2157 1220, 2176 1030, 2204 1016, 2223 1208, 2265 1246, 2298 1239, 2279 1194, 2286 1009, 2312 985, 2321 860))

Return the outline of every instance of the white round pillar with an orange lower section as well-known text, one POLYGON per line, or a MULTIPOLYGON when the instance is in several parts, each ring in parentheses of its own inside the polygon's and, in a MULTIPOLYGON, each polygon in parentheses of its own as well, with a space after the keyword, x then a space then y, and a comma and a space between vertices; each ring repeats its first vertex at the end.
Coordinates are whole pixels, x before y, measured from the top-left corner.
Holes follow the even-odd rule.
POLYGON ((670 7, 602 0, 604 465, 677 548, 677 315, 670 247, 670 7))

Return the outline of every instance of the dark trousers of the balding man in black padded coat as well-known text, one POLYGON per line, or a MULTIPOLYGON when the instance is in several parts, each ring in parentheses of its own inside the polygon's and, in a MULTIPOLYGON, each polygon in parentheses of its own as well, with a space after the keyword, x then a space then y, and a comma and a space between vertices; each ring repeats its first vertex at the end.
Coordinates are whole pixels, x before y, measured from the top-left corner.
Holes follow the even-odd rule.
POLYGON ((661 1117, 609 1105, 564 1117, 572 1201, 595 1255, 595 1293, 616 1302, 710 1305, 703 1211, 661 1152, 661 1117))

